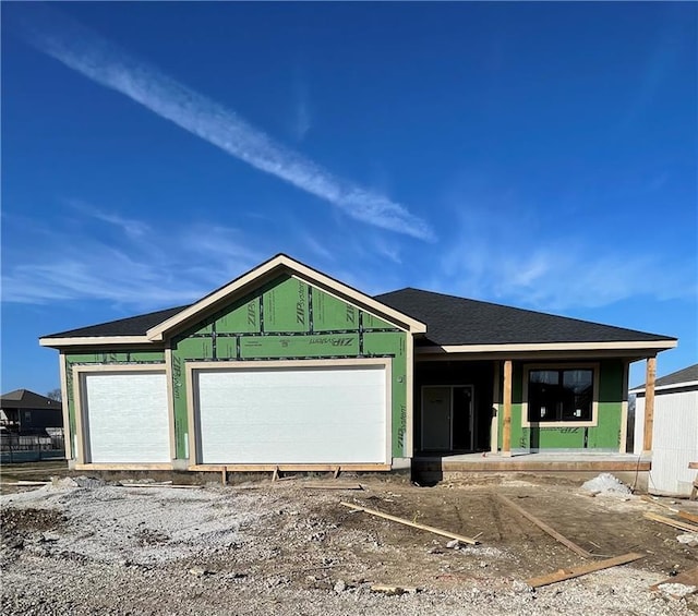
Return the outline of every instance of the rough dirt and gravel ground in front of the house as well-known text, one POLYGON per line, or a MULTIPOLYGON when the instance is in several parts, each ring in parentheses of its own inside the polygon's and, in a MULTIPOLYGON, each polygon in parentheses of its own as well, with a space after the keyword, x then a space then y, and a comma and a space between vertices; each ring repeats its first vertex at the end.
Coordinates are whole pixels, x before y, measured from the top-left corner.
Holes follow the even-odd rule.
MULTIPOLYGON (((3 614, 698 613, 698 594, 648 590, 698 565, 698 547, 676 540, 682 531, 642 517, 667 510, 637 495, 591 496, 574 478, 482 475, 420 487, 299 476, 190 490, 75 481, 2 496, 3 614), (599 559, 645 557, 532 591, 529 578, 588 560, 498 494, 599 559), (341 500, 479 544, 448 548, 446 538, 341 500), (417 592, 385 596, 372 584, 417 592)), ((674 506, 698 512, 698 503, 674 506)))

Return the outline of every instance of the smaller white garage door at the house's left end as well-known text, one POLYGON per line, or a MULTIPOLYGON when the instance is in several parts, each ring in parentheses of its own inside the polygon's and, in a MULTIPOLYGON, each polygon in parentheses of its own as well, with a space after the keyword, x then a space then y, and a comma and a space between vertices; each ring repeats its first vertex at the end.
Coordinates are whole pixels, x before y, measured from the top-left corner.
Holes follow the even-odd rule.
POLYGON ((86 461, 171 461, 165 373, 86 373, 83 379, 86 461))

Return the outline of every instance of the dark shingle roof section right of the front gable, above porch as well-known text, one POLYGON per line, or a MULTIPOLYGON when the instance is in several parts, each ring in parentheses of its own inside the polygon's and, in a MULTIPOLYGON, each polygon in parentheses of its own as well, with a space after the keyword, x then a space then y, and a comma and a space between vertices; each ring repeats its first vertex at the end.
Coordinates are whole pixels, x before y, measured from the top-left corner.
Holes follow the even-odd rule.
POLYGON ((440 346, 674 340, 419 289, 401 289, 375 299, 425 323, 428 343, 440 346))

